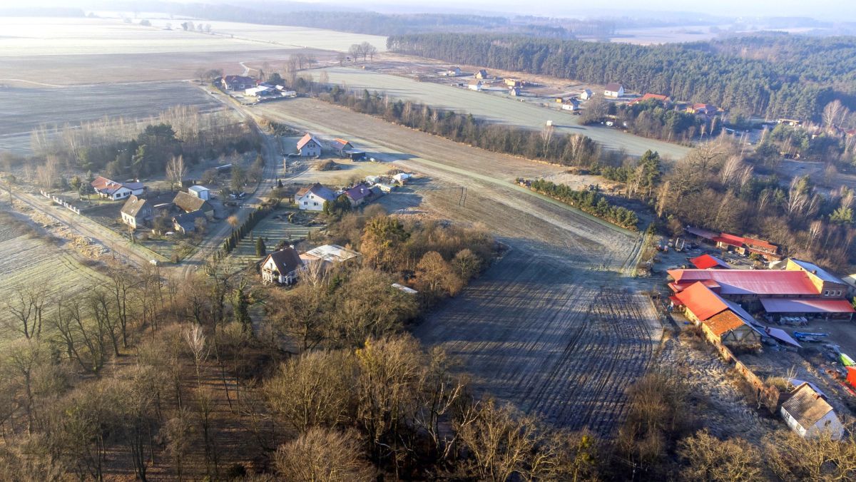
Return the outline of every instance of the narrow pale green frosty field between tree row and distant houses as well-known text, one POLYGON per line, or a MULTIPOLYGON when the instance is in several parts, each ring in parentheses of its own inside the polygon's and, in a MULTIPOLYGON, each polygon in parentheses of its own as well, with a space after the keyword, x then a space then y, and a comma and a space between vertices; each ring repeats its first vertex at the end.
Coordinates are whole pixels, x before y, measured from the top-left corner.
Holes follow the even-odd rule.
POLYGON ((645 139, 621 132, 619 129, 582 126, 579 116, 564 111, 547 110, 531 103, 514 100, 504 94, 473 92, 433 82, 419 82, 398 75, 381 74, 372 70, 330 67, 322 71, 329 75, 331 84, 345 85, 349 89, 386 92, 391 98, 407 99, 443 109, 467 112, 490 122, 541 129, 545 122, 551 120, 556 126, 556 133, 585 134, 609 149, 624 149, 633 156, 640 156, 651 149, 662 156, 678 159, 689 152, 689 148, 685 146, 645 139))

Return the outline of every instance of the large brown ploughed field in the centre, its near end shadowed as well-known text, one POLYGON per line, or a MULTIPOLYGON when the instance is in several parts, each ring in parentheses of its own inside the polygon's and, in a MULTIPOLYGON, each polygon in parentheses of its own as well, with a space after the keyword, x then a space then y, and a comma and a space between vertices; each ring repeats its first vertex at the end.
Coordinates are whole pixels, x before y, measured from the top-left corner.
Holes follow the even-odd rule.
MULTIPOLYGON (((415 334, 449 350, 484 394, 551 423, 615 429, 624 390, 645 372, 662 330, 626 277, 639 236, 514 186, 559 166, 473 147, 310 99, 254 108, 419 173, 383 200, 483 225, 510 251, 415 334), (398 198, 396 198, 398 197, 398 198), (401 203, 399 203, 401 204, 401 203)), ((389 166, 392 167, 392 166, 389 166)), ((641 286, 641 285, 640 285, 641 286)))

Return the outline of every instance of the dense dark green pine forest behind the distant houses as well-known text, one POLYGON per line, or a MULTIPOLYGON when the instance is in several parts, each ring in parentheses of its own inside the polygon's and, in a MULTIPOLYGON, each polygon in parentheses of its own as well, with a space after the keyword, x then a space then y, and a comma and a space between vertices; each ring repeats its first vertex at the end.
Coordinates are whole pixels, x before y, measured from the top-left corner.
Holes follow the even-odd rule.
POLYGON ((390 51, 446 62, 549 74, 595 84, 618 81, 716 104, 734 114, 817 120, 840 98, 853 106, 856 39, 749 37, 694 44, 628 45, 513 35, 413 33, 387 39, 390 51), (775 53, 745 54, 754 45, 775 53))

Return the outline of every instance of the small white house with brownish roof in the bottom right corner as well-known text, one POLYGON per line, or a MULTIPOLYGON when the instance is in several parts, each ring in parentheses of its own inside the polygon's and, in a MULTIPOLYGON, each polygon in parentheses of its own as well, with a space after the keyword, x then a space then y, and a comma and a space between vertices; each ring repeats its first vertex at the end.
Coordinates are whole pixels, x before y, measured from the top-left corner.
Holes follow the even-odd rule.
POLYGON ((819 437, 825 432, 833 440, 841 440, 844 435, 844 425, 835 410, 807 383, 791 392, 788 400, 782 403, 780 414, 800 437, 819 437))

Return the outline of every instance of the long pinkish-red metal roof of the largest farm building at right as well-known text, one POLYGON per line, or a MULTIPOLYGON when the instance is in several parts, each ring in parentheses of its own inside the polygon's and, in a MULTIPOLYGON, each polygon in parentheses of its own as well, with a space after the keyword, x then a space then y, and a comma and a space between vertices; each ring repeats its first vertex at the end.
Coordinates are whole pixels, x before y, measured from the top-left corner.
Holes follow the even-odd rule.
POLYGON ((818 295, 805 271, 669 270, 674 289, 713 282, 720 295, 818 295))

